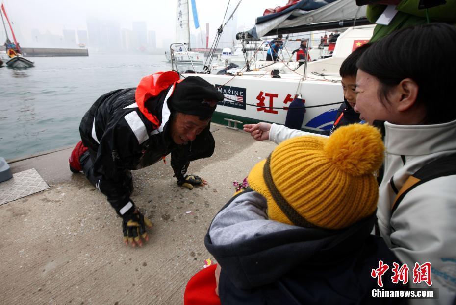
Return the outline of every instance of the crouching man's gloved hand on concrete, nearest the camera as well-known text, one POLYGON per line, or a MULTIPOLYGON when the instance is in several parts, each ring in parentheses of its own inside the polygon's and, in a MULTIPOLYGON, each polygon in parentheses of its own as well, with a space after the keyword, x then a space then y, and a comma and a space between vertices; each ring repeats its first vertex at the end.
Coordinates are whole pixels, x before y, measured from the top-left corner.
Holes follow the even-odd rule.
POLYGON ((122 231, 124 232, 124 242, 128 246, 128 243, 132 247, 136 245, 142 247, 143 238, 145 241, 149 240, 147 235, 146 227, 152 228, 152 222, 143 216, 138 210, 135 210, 132 214, 124 217, 122 221, 122 231))

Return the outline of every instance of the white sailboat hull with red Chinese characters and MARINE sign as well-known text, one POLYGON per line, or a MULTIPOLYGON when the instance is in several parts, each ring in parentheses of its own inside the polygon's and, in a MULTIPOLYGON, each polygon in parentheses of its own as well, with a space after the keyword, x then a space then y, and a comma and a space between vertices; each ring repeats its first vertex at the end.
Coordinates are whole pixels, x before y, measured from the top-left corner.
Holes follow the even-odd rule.
MULTIPOLYGON (((194 74, 183 74, 184 77, 194 74)), ((307 108, 303 130, 322 131, 332 127, 339 104, 342 102, 340 83, 268 77, 234 77, 215 74, 198 74, 213 84, 226 99, 219 102, 212 121, 226 124, 226 118, 239 120, 244 124, 270 122, 285 124, 288 110, 295 94, 301 93, 307 108), (259 79, 261 81, 259 81, 259 79), (300 85, 301 82, 301 85, 300 85), (299 90, 299 92, 297 92, 299 90), (253 105, 253 106, 252 106, 253 105), (279 108, 279 109, 277 109, 279 108)), ((302 110, 304 111, 304 109, 302 110)))

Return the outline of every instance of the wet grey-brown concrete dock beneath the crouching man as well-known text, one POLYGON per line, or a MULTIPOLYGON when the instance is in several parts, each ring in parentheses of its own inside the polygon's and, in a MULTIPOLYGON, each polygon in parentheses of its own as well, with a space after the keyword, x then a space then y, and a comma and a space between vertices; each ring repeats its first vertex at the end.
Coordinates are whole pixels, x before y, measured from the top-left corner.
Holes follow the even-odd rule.
POLYGON ((212 130, 214 155, 189 167, 207 186, 177 186, 170 156, 133 172, 132 199, 154 224, 142 248, 124 245, 121 218, 70 172, 72 148, 10 163, 13 173, 35 168, 50 188, 0 206, 1 304, 183 304, 187 281, 212 259, 204 235, 232 182, 276 146, 221 125, 212 130))

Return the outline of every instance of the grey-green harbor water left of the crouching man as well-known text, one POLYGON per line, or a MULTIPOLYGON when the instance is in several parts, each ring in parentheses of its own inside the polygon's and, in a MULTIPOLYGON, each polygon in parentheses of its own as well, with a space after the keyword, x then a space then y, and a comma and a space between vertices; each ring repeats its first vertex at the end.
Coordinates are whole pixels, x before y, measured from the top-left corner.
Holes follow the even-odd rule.
POLYGON ((82 116, 101 94, 171 69, 164 55, 30 59, 34 68, 0 68, 0 157, 6 160, 75 144, 82 116))

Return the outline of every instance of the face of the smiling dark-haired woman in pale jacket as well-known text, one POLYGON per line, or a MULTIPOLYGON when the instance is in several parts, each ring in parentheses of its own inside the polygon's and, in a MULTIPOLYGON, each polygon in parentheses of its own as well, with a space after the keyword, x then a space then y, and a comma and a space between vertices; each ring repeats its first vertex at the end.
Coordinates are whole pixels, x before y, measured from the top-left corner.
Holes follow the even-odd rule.
POLYGON ((394 122, 396 114, 388 102, 379 97, 380 82, 376 77, 359 70, 356 74, 355 111, 359 118, 372 125, 374 120, 394 122))

